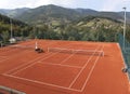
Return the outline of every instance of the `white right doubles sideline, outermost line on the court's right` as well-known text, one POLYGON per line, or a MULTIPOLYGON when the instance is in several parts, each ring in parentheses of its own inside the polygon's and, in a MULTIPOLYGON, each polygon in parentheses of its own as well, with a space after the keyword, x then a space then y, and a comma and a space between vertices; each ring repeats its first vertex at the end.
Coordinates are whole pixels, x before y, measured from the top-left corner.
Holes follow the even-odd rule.
MULTIPOLYGON (((102 46, 102 50, 103 50, 103 49, 104 49, 104 45, 102 46)), ((90 77, 92 76, 92 72, 93 72, 93 70, 94 70, 94 68, 95 68, 95 66, 96 66, 96 64, 98 64, 98 61, 99 61, 99 58, 101 57, 100 55, 101 55, 101 54, 99 54, 99 56, 96 57, 96 59, 95 59, 95 62, 94 62, 94 65, 92 66, 91 70, 90 70, 90 72, 89 72, 89 75, 88 75, 88 78, 86 79, 84 84, 82 85, 81 92, 84 90, 84 88, 86 88, 86 85, 87 85, 90 77)))

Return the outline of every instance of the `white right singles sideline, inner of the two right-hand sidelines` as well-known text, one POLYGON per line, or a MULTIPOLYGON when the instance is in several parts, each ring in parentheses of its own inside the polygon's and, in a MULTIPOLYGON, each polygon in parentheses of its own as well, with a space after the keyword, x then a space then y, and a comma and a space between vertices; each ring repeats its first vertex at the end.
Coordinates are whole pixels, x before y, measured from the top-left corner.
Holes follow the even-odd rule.
MULTIPOLYGON (((96 50, 100 48, 100 45, 94 50, 94 52, 96 52, 96 50)), ((94 56, 94 53, 89 57, 89 59, 87 61, 86 65, 81 68, 81 70, 79 71, 79 73, 76 76, 76 78, 74 79, 74 81, 70 83, 69 88, 73 86, 73 84, 76 82, 76 80, 79 78, 79 76, 81 75, 81 72, 83 71, 83 69, 87 67, 87 65, 89 64, 89 62, 91 61, 91 58, 94 56)))

